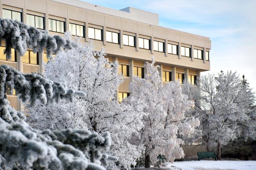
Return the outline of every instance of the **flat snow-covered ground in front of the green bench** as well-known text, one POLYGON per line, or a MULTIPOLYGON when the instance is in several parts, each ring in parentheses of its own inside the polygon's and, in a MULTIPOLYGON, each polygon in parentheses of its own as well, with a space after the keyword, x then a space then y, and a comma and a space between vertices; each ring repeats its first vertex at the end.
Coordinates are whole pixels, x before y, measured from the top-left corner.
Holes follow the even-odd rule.
POLYGON ((183 161, 168 163, 171 170, 256 170, 256 161, 183 161))

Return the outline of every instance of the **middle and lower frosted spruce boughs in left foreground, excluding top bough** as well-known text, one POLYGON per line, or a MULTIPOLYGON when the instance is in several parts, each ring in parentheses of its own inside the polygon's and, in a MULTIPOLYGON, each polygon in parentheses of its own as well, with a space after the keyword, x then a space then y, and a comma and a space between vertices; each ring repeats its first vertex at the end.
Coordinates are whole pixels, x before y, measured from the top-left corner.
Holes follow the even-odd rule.
MULTIPOLYGON (((108 132, 99 135, 82 129, 39 131, 25 122, 26 116, 9 105, 6 93, 15 89, 18 98, 34 106, 51 105, 84 98, 85 93, 69 89, 37 74, 22 74, 6 65, 0 66, 0 167, 1 169, 77 169, 104 170, 100 164, 116 161, 102 154, 111 145, 108 132)), ((40 113, 38 113, 40 114, 40 113)))

